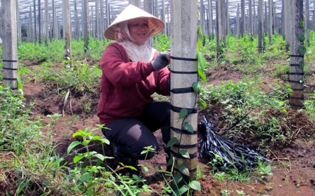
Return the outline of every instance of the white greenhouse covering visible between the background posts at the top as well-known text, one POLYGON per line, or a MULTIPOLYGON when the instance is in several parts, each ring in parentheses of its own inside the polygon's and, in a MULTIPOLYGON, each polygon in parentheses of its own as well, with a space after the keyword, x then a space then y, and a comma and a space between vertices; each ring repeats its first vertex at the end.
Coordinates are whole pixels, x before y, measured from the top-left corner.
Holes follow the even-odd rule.
MULTIPOLYGON (((152 14, 156 17, 162 19, 165 23, 169 24, 170 18, 170 9, 172 0, 69 0, 70 6, 70 25, 72 31, 72 38, 78 38, 82 36, 82 25, 84 25, 82 19, 82 8, 83 2, 88 2, 88 22, 91 36, 94 38, 104 38, 104 29, 109 26, 111 22, 116 18, 116 16, 125 8, 129 3, 137 2, 139 3, 140 8, 144 8, 144 4, 148 1, 152 2, 152 14), (107 11, 108 10, 108 11, 107 11)), ((198 11, 204 13, 204 17, 200 18, 200 23, 205 23, 204 21, 209 21, 210 18, 209 2, 212 6, 212 19, 216 20, 216 2, 217 0, 197 0, 198 11)), ((281 29, 281 13, 283 10, 282 3, 283 1, 288 0, 263 0, 264 9, 269 9, 269 1, 273 3, 274 13, 274 27, 276 29, 281 29)), ((301 0, 302 1, 302 0, 301 0)), ((303 0, 307 2, 307 0, 303 0)), ((45 36, 46 32, 49 31, 50 38, 62 38, 62 25, 64 18, 62 17, 62 0, 18 0, 17 1, 17 17, 19 18, 18 22, 18 39, 22 41, 35 41, 38 38, 38 34, 45 36), (48 16, 45 15, 46 5, 48 4, 48 16), (45 5, 46 4, 46 5, 45 5), (40 10, 40 11, 38 11, 40 10), (48 22, 45 21, 48 18, 48 22), (41 21, 41 22, 39 22, 41 21), (38 25, 39 24, 39 25, 38 25), (48 24, 48 25, 47 25, 48 24), (47 27, 48 28, 45 28, 47 27), (35 30, 36 29, 36 30, 35 30), (41 29, 39 31, 38 29, 41 29), (26 35, 27 33, 27 37, 26 35), (53 32, 52 32, 53 31, 53 32), (23 34, 24 32, 24 34, 23 34), (37 33, 37 35, 36 35, 37 33)), ((241 17, 241 2, 244 2, 244 16, 245 18, 254 18, 250 13, 252 10, 256 15, 258 13, 258 0, 220 0, 220 2, 228 3, 228 17, 230 18, 230 27, 231 29, 237 29, 237 20, 241 17), (251 2, 251 3, 249 3, 251 2), (249 8, 252 6, 251 9, 249 8), (254 9, 255 8, 255 9, 254 9), (239 13, 237 15, 237 13, 239 13)), ((314 0, 308 0, 309 2, 309 21, 314 22, 314 0)), ((1 4, 0 4, 1 6, 1 4)), ((225 5, 226 8, 227 5, 225 5)), ((269 12, 269 10, 267 10, 269 12)), ((267 13, 266 12, 266 13, 267 13)), ((306 14, 305 14, 306 15, 306 14)), ((0 16, 1 17, 1 16, 0 16)), ((267 16, 266 16, 267 18, 267 16)), ((247 19, 246 19, 247 20, 247 19)), ((0 20, 1 22, 1 20, 0 20)), ((267 22, 266 22, 267 24, 267 22)), ((214 23, 215 26, 215 23, 214 23)), ((204 26, 202 26, 204 27, 204 26)), ((314 29, 315 24, 311 25, 314 29)), ((204 29, 202 29, 204 31, 204 29)), ((210 31, 210 30, 209 30, 210 31)), ((165 33, 169 35, 169 28, 165 29, 165 33)), ((0 28, 0 37, 2 35, 2 30, 0 28)))

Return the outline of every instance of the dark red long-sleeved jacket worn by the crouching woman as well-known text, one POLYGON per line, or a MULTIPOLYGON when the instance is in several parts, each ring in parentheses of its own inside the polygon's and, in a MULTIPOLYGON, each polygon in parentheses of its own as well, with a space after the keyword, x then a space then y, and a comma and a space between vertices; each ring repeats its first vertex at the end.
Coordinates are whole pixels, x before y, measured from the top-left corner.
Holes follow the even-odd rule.
POLYGON ((154 92, 169 95, 167 66, 155 71, 151 62, 132 62, 118 43, 106 47, 100 65, 102 93, 97 116, 101 125, 118 118, 139 116, 144 106, 153 101, 154 92))

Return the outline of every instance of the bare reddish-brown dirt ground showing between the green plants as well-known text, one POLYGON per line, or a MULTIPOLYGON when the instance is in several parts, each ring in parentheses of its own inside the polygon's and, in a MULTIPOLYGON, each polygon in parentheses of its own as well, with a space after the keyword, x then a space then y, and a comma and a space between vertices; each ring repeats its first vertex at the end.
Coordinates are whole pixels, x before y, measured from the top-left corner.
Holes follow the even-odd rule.
MULTIPOLYGON (((242 74, 235 71, 221 71, 209 73, 210 83, 219 85, 221 82, 228 82, 232 80, 237 82, 242 80, 242 74)), ((269 78, 260 78, 263 81, 262 90, 268 91, 275 82, 269 78)), ((314 81, 313 81, 314 83, 314 81)), ((313 84, 314 86, 314 84, 313 84)), ((43 83, 28 83, 24 84, 24 93, 27 102, 34 102, 33 116, 41 116, 44 120, 48 114, 62 113, 63 100, 57 94, 48 94, 43 83)), ((71 111, 80 111, 76 109, 76 100, 73 97, 71 103, 71 111)), ((71 134, 77 130, 84 130, 86 127, 94 128, 98 124, 98 118, 94 114, 90 117, 82 117, 80 113, 79 118, 73 120, 70 112, 70 106, 66 106, 65 115, 57 120, 57 125, 54 128, 56 141, 59 139, 71 139, 71 134)), ((294 112, 292 111, 292 114, 294 112)), ((199 114, 200 116, 202 113, 199 114)), ((303 120, 296 118, 297 121, 303 120)), ((298 123, 298 122, 297 122, 298 123)), ((297 124, 298 125, 298 124, 297 124)), ((96 134, 102 135, 97 130, 96 134)), ((145 165, 152 168, 151 172, 145 174, 147 183, 158 192, 165 186, 165 182, 158 175, 155 175, 154 165, 161 165, 166 167, 165 154, 162 151, 164 144, 162 144, 162 137, 160 132, 155 132, 155 136, 160 143, 160 151, 154 158, 144 162, 145 165)), ((66 149, 66 148, 65 148, 66 149)), ((59 151, 62 151, 60 148, 59 151)), ((232 182, 232 181, 217 181, 213 178, 209 167, 199 162, 199 167, 204 171, 200 183, 202 186, 201 193, 194 195, 221 195, 224 190, 230 195, 241 195, 237 191, 242 191, 246 195, 315 195, 315 141, 314 139, 307 139, 303 136, 298 137, 293 144, 284 148, 269 149, 268 158, 272 162, 272 176, 267 176, 261 179, 251 179, 249 182, 232 182)))

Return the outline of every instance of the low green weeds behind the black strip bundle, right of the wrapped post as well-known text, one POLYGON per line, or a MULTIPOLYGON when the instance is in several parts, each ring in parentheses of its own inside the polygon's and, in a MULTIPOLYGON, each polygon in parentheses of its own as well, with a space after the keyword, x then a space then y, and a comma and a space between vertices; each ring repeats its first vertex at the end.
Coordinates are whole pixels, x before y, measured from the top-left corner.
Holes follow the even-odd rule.
POLYGON ((230 81, 216 87, 209 85, 202 92, 202 97, 221 107, 225 123, 232 127, 227 137, 241 138, 246 134, 249 138, 260 139, 262 146, 290 141, 293 130, 281 126, 286 120, 281 118, 281 113, 287 112, 285 98, 290 88, 274 87, 272 92, 266 94, 260 90, 259 84, 258 80, 249 81, 245 78, 235 84, 230 81), (277 115, 267 115, 269 112, 277 115))

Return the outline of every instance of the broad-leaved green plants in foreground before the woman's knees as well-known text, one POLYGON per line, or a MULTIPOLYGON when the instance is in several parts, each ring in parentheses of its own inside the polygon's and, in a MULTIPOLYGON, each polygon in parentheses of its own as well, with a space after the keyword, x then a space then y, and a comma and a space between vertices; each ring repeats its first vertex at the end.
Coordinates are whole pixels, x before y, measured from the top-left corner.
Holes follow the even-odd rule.
MULTIPOLYGON (((142 185, 141 188, 139 187, 140 183, 143 184, 146 181, 141 176, 132 175, 131 177, 117 173, 120 169, 132 169, 132 166, 122 165, 123 168, 118 167, 116 170, 113 170, 106 165, 103 166, 102 163, 105 162, 106 164, 106 159, 109 159, 109 157, 105 155, 104 146, 102 146, 102 154, 89 150, 90 142, 99 141, 101 144, 109 144, 107 139, 92 134, 88 128, 85 130, 78 130, 78 132, 73 134, 73 137, 81 137, 82 141, 73 141, 69 145, 67 153, 71 154, 71 152, 78 146, 83 146, 85 152, 76 153, 73 158, 76 167, 71 169, 69 171, 70 174, 66 176, 67 178, 72 179, 75 183, 72 191, 76 191, 76 193, 85 193, 87 195, 99 193, 100 190, 104 191, 105 195, 110 193, 139 195, 140 193, 149 193, 152 191, 147 185, 142 185), (85 162, 83 159, 87 160, 87 165, 83 164, 85 162)), ((148 146, 143 153, 148 153, 150 151, 154 151, 154 149, 148 146)), ((145 166, 143 167, 146 168, 145 166)))

